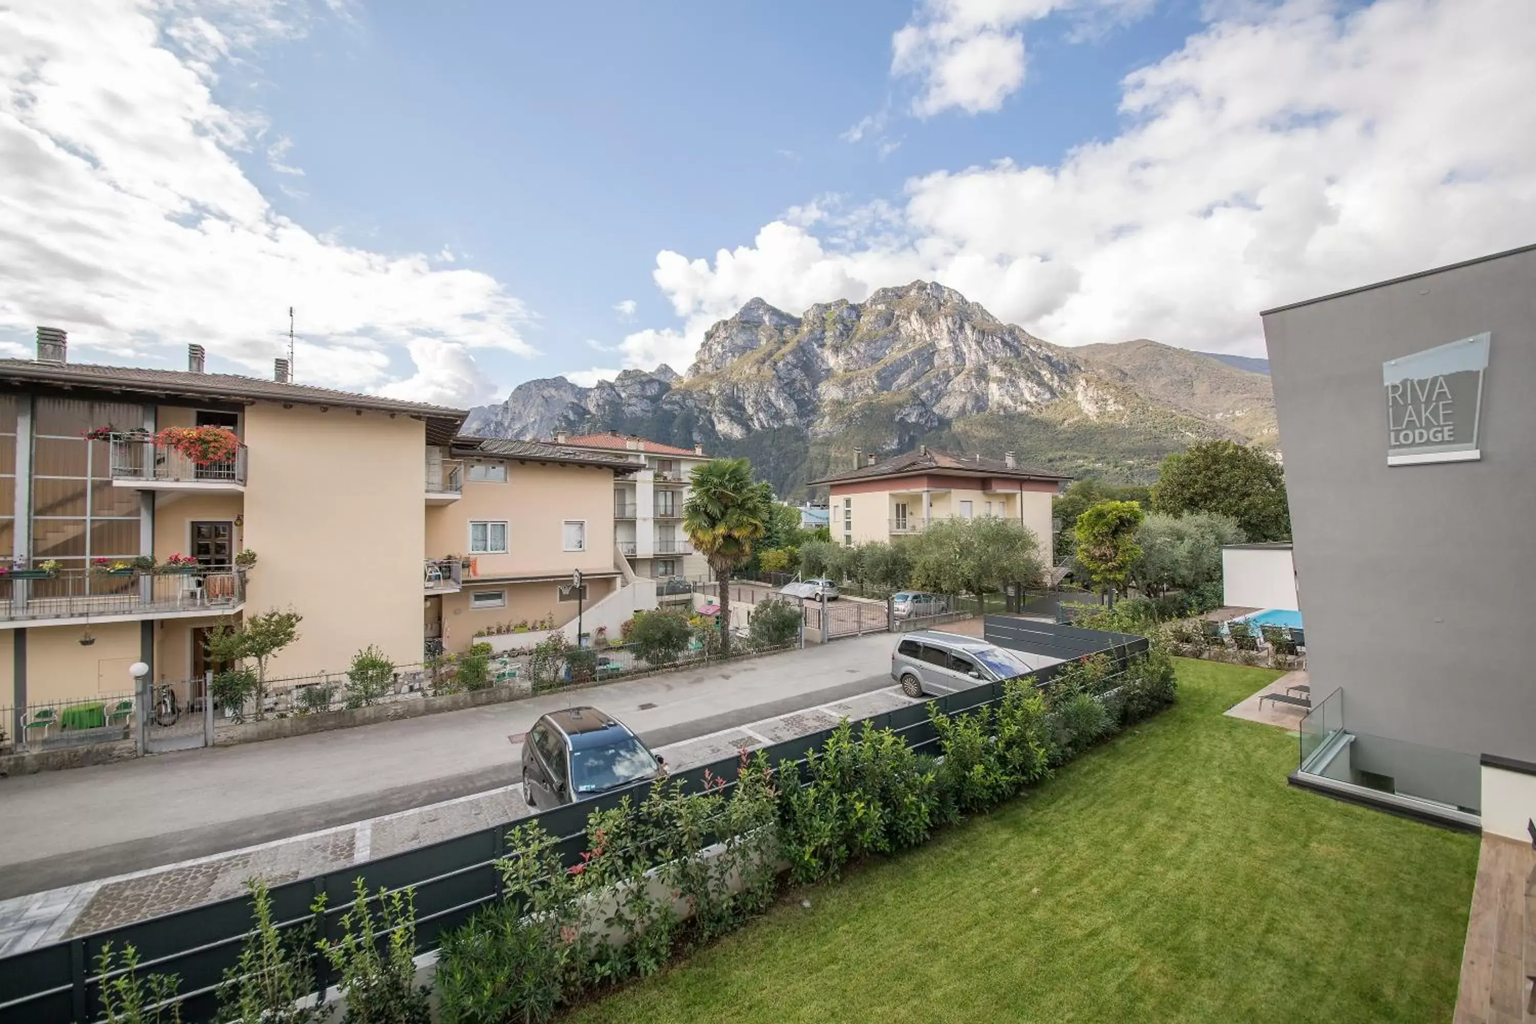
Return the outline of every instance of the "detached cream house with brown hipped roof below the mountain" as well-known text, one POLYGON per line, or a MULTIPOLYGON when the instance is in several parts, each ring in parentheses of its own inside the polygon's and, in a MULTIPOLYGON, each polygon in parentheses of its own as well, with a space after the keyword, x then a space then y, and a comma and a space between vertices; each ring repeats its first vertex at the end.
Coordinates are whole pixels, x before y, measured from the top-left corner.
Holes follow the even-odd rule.
POLYGON ((1069 479, 1025 468, 1012 453, 998 461, 923 445, 883 462, 856 450, 851 468, 811 481, 811 487, 831 490, 829 527, 837 543, 894 540, 937 519, 997 516, 1032 530, 1046 565, 1054 565, 1051 499, 1069 479))

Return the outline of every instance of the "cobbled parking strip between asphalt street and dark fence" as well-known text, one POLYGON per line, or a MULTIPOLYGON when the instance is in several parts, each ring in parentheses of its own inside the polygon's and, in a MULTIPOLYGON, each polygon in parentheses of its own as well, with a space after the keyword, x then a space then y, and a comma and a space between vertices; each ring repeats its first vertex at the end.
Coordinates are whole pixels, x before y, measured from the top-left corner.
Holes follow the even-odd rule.
MULTIPOLYGON (((868 685, 868 680, 862 682, 868 685)), ((917 702, 888 685, 657 749, 670 766, 687 769, 819 732, 842 718, 863 718, 909 703, 917 702)), ((244 890, 246 878, 252 875, 272 884, 292 881, 487 829, 527 814, 522 786, 501 786, 307 835, 3 900, 0 956, 233 897, 244 890)))

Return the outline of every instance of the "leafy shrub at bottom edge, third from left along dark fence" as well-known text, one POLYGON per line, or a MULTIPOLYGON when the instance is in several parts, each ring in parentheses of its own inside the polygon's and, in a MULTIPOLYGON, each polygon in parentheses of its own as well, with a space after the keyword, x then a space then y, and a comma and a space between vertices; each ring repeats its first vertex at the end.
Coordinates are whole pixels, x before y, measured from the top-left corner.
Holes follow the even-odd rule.
MULTIPOLYGON (((344 1024, 430 1024, 430 989, 416 981, 416 906, 412 889, 369 897, 362 878, 355 881, 352 907, 341 915, 341 938, 319 940, 319 952, 339 975, 347 1001, 344 1024), (378 920, 369 903, 378 903, 378 920)), ((324 898, 315 912, 324 910, 324 898)))

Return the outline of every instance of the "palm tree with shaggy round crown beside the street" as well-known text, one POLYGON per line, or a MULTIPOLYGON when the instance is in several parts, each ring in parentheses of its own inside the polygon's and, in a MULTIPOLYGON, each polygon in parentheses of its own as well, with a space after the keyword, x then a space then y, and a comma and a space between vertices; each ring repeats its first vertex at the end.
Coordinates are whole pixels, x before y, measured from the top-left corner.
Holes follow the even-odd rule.
POLYGON ((731 652, 731 570, 753 556, 773 516, 773 488, 753 482, 746 459, 713 459, 690 474, 682 528, 720 585, 720 652, 731 652))

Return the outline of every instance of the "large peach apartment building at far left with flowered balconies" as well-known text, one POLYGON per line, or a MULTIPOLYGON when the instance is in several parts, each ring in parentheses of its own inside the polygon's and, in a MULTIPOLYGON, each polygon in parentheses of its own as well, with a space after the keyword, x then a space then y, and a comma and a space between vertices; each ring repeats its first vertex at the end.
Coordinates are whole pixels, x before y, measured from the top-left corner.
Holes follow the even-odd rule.
POLYGON ((422 467, 462 410, 293 384, 283 359, 270 381, 206 373, 201 345, 186 370, 71 364, 66 345, 38 329, 35 361, 0 359, 0 694, 17 715, 129 691, 135 662, 201 677, 215 623, 270 608, 304 616, 275 674, 339 671, 370 643, 421 660, 422 467), (194 431, 227 442, 198 451, 172 427, 233 438, 194 431))

